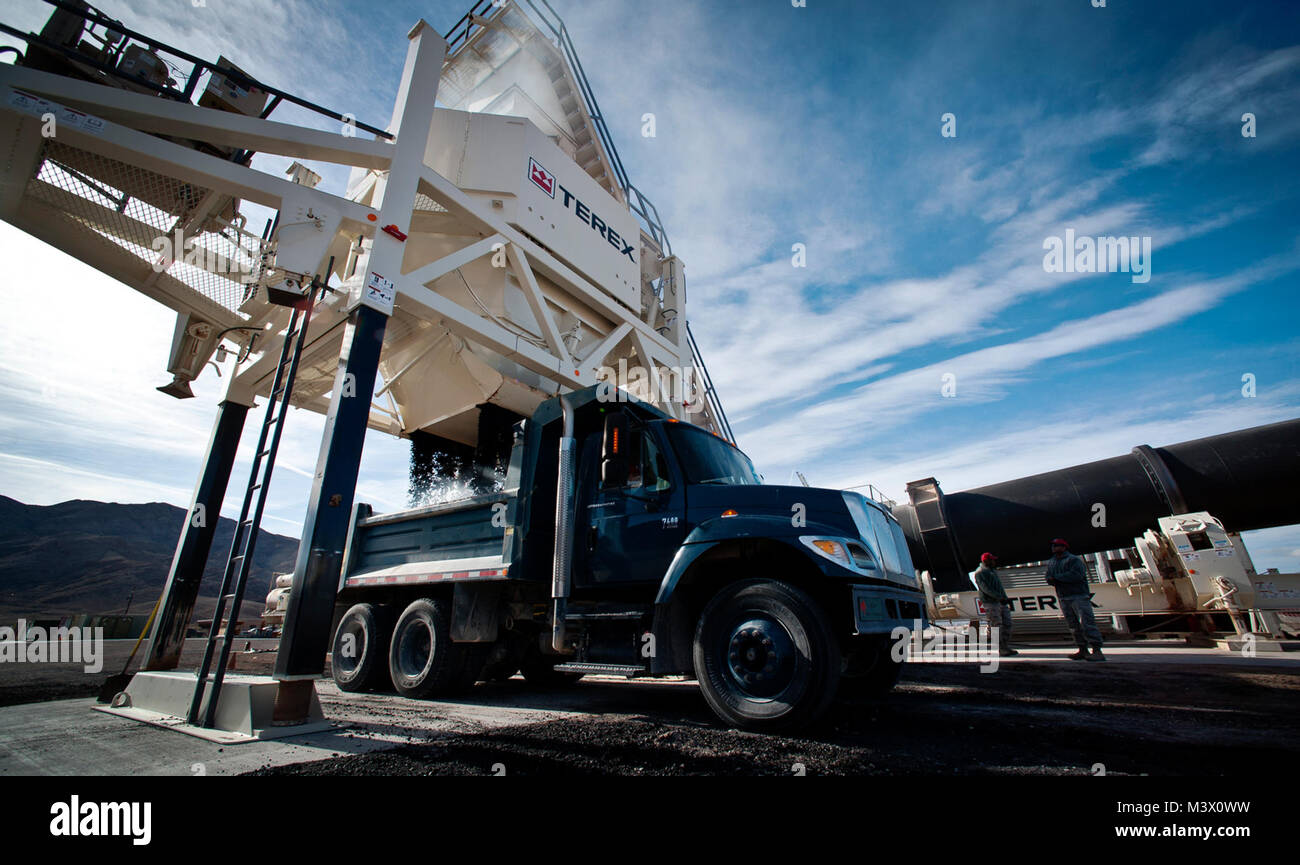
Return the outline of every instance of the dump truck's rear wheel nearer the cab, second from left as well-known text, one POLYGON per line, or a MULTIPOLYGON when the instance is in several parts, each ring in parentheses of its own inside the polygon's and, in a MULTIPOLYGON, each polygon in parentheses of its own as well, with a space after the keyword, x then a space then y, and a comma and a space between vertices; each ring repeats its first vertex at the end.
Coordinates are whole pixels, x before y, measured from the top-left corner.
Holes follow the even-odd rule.
POLYGON ((419 598, 402 611, 393 626, 389 675, 400 696, 415 700, 465 689, 465 652, 451 641, 450 601, 419 598))

